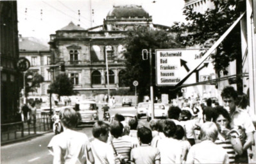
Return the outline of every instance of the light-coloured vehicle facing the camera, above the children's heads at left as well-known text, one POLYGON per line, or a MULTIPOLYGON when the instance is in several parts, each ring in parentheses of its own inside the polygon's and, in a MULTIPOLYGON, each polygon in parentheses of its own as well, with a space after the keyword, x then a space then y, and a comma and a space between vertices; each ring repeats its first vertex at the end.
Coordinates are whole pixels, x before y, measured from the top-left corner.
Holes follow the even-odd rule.
POLYGON ((81 101, 78 107, 78 124, 94 124, 99 120, 98 106, 95 101, 81 101))

